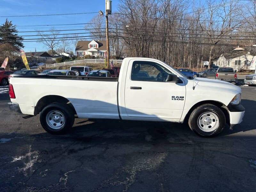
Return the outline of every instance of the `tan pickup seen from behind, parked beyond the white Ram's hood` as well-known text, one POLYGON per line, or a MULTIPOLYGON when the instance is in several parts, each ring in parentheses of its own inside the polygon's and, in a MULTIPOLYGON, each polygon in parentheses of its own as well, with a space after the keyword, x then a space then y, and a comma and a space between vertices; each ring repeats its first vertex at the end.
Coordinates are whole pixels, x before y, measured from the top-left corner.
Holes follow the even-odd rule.
POLYGON ((227 82, 236 82, 236 72, 231 67, 220 67, 216 71, 215 79, 227 82))

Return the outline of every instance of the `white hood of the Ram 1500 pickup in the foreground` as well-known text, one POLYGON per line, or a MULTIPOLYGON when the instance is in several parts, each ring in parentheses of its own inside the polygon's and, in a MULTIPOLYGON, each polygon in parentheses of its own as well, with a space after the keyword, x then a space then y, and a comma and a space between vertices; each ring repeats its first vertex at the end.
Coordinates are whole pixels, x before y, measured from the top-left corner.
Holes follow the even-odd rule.
POLYGON ((241 88, 226 81, 220 81, 216 79, 206 79, 206 78, 195 78, 195 83, 202 87, 214 87, 220 89, 234 90, 241 93, 241 88))

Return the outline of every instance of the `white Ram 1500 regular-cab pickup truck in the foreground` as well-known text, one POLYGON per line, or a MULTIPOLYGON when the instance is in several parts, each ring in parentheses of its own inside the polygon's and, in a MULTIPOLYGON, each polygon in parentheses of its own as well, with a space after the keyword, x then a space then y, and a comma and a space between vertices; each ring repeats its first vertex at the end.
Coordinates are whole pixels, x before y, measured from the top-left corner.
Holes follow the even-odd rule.
POLYGON ((26 76, 10 80, 10 109, 36 116, 50 133, 64 133, 78 118, 188 123, 212 137, 242 122, 241 89, 231 83, 191 78, 166 63, 125 58, 119 78, 26 76), (84 89, 86 87, 86 89, 84 89))

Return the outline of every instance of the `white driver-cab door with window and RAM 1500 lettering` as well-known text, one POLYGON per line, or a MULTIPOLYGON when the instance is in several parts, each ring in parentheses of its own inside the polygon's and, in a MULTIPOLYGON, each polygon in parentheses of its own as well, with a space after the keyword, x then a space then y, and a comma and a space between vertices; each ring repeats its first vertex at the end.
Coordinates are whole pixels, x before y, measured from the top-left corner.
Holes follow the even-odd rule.
POLYGON ((166 82, 172 72, 156 61, 130 60, 125 81, 125 109, 128 119, 179 121, 185 83, 166 82))

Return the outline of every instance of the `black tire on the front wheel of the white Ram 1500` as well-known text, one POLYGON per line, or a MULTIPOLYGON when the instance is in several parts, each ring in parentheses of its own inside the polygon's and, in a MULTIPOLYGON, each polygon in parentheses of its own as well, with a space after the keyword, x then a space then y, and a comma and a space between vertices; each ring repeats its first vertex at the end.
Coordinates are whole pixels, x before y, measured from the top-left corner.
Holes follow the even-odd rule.
MULTIPOLYGON (((217 122, 218 120, 215 120, 215 121, 217 122)), ((214 120, 212 119, 211 121, 213 122, 214 120)), ((195 108, 188 119, 188 125, 190 129, 201 137, 214 137, 218 135, 223 131, 225 124, 226 124, 226 118, 223 111, 217 106, 212 104, 204 104, 195 108), (199 117, 205 114, 207 115, 208 112, 214 114, 219 120, 218 124, 216 123, 216 128, 212 131, 209 130, 209 132, 202 130, 202 128, 200 128, 200 125, 199 125, 199 122, 200 122, 199 117)), ((207 129, 208 125, 205 125, 205 126, 206 126, 205 128, 207 129)))

